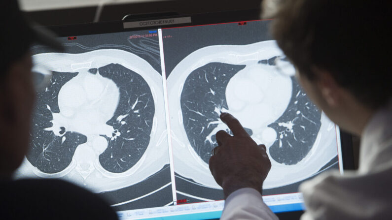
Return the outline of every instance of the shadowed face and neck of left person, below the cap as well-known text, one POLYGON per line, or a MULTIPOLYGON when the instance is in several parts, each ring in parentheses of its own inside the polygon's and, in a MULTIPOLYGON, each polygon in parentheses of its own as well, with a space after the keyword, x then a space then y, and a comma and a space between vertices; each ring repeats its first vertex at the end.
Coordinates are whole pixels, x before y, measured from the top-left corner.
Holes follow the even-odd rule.
POLYGON ((35 90, 28 52, 2 72, 0 88, 0 177, 9 177, 27 153, 35 90))

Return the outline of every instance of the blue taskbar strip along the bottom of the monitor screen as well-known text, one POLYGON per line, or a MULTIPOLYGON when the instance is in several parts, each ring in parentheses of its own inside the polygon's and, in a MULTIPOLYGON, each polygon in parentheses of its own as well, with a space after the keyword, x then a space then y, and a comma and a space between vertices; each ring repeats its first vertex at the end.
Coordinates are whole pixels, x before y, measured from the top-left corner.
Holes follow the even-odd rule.
MULTIPOLYGON (((274 213, 294 212, 294 211, 304 210, 303 203, 274 205, 274 206, 269 206, 269 207, 274 213)), ((214 211, 214 212, 192 213, 192 214, 185 214, 185 215, 149 218, 149 219, 144 219, 144 220, 184 220, 184 219, 186 219, 186 220, 209 220, 209 219, 219 219, 221 215, 222 215, 222 211, 214 211)))

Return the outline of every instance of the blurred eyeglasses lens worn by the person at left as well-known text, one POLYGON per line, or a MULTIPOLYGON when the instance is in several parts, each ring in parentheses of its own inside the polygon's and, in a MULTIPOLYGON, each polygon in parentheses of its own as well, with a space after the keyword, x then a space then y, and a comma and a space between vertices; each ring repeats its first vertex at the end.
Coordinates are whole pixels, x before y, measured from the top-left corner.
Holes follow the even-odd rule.
POLYGON ((52 79, 52 70, 44 63, 38 62, 33 57, 33 67, 32 67, 32 74, 33 74, 33 83, 36 88, 37 92, 44 91, 51 83, 52 79))

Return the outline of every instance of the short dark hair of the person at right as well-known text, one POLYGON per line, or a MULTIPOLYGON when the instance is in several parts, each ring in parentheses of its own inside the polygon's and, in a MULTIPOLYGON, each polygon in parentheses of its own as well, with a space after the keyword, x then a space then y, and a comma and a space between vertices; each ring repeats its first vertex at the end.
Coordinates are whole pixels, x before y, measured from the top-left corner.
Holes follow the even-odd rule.
POLYGON ((379 0, 281 0, 272 32, 301 75, 312 67, 372 109, 392 96, 391 11, 379 0))

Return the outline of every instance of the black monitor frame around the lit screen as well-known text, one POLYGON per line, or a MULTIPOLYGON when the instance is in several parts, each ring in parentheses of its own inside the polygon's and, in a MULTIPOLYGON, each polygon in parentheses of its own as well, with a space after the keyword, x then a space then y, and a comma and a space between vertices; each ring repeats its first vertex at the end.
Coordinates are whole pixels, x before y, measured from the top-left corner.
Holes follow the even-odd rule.
MULTIPOLYGON (((151 30, 158 28, 174 28, 174 27, 187 27, 187 26, 198 26, 198 25, 212 25, 221 23, 233 23, 233 22, 244 22, 244 21, 256 21, 260 20, 260 9, 249 9, 241 11, 227 11, 227 12, 214 12, 204 14, 191 14, 191 15, 170 15, 170 16, 156 16, 154 14, 132 16, 132 19, 126 19, 126 21, 113 21, 113 22, 101 22, 101 23, 86 23, 66 26, 51 26, 46 27, 53 31, 60 37, 67 36, 78 36, 88 34, 100 34, 100 33, 111 33, 111 32, 123 32, 123 31, 141 31, 151 30), (192 22, 178 25, 160 25, 150 26, 145 28, 132 28, 124 29, 124 22, 142 21, 142 20, 153 20, 153 19, 167 19, 167 18, 178 18, 178 17, 191 17, 192 22)), ((353 170, 354 166, 354 153, 353 153, 353 142, 352 135, 340 130, 341 146, 342 146, 342 158, 343 158, 343 169, 353 170)), ((299 219, 303 211, 277 213, 277 216, 281 220, 295 220, 299 219)))

